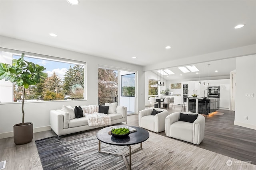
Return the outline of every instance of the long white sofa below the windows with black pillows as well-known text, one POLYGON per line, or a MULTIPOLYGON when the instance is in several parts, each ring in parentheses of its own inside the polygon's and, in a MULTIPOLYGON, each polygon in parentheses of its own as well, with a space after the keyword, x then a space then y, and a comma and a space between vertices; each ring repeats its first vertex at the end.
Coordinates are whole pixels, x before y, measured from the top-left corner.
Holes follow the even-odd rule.
MULTIPOLYGON (((89 106, 93 106, 93 105, 89 105, 89 106)), ((98 105, 94 105, 94 106, 96 107, 98 105)), ((86 106, 81 106, 81 107, 83 108, 83 110, 86 110, 84 109, 86 106)), ((110 107, 111 108, 109 109, 108 116, 111 117, 111 125, 127 121, 127 107, 116 106, 112 104, 110 104, 110 107)), ((107 125, 89 126, 87 117, 70 118, 72 111, 69 112, 68 110, 65 110, 63 108, 50 111, 50 127, 58 136, 107 126, 107 125)))

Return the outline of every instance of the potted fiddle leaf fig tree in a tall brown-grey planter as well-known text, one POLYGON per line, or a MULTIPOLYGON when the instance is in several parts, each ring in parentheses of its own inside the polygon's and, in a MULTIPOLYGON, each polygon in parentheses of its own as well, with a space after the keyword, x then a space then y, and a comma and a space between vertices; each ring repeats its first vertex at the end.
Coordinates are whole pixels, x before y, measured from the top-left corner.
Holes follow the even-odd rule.
POLYGON ((22 123, 13 126, 14 143, 22 145, 29 143, 33 139, 33 123, 24 123, 24 99, 26 88, 30 85, 36 85, 42 77, 47 77, 43 72, 46 68, 32 62, 24 61, 24 53, 20 59, 13 59, 12 65, 0 63, 0 80, 10 81, 22 89, 22 123))

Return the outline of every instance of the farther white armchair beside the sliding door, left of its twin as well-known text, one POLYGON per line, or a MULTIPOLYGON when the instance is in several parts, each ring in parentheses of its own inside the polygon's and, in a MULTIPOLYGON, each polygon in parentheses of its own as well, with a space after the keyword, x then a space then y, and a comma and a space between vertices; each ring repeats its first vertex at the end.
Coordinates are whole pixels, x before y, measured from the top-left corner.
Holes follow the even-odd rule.
POLYGON ((139 126, 153 132, 162 132, 165 129, 165 118, 169 114, 166 109, 155 108, 156 111, 162 111, 156 115, 151 115, 153 109, 144 109, 139 111, 139 126))

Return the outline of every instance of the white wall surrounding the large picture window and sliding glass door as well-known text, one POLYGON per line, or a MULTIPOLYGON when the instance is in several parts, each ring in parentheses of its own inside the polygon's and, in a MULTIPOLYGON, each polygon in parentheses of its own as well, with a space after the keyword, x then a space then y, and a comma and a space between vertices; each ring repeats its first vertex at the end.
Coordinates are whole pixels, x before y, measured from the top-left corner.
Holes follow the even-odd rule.
MULTIPOLYGON (((123 68, 127 70, 138 71, 138 110, 136 113, 144 109, 144 92, 145 92, 145 78, 142 66, 128 64, 100 57, 94 57, 82 53, 76 53, 64 49, 58 49, 46 45, 40 45, 37 43, 31 43, 27 41, 21 41, 18 39, 12 39, 9 37, 1 36, 2 48, 14 49, 23 51, 25 53, 36 53, 41 55, 49 55, 53 57, 60 57, 64 59, 72 59, 77 61, 86 62, 87 69, 87 100, 74 100, 74 101, 55 101, 55 102, 38 102, 38 103, 26 103, 24 105, 25 121, 33 122, 34 132, 43 131, 49 129, 50 125, 50 110, 60 109, 62 105, 79 106, 98 104, 98 64, 105 66, 112 66, 116 68, 123 68)), ((11 137, 13 135, 13 125, 21 123, 22 113, 21 104, 0 104, 0 138, 11 137)))

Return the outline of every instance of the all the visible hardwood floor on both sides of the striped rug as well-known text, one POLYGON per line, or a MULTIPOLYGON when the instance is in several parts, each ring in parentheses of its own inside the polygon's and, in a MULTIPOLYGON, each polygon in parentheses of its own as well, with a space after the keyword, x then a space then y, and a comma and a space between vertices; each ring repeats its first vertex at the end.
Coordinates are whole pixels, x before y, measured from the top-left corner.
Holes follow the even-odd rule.
MULTIPOLYGON (((170 113, 180 110, 180 106, 168 109, 170 113)), ((256 130, 234 125, 234 111, 218 111, 224 114, 206 118, 202 143, 188 144, 256 164, 256 130)), ((138 115, 129 115, 127 124, 138 126, 138 115)), ((166 137, 165 131, 156 134, 166 137)), ((42 170, 35 141, 54 135, 53 131, 34 133, 33 141, 25 145, 15 145, 13 137, 0 139, 0 161, 7 160, 5 170, 42 170)))

